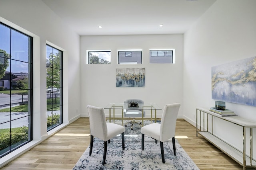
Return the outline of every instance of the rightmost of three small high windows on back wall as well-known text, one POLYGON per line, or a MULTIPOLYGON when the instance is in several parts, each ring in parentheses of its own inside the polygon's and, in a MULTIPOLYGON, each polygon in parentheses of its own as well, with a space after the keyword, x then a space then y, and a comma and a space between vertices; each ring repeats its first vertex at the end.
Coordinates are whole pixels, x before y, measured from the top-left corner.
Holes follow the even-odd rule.
POLYGON ((149 63, 174 63, 174 49, 150 49, 149 63))

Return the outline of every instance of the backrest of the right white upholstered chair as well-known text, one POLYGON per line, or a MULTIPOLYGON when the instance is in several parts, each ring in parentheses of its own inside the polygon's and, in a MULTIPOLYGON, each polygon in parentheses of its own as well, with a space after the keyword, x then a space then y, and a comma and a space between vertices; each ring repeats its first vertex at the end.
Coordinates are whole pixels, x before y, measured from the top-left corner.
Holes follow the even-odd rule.
POLYGON ((175 135, 176 119, 180 109, 180 104, 167 104, 164 106, 161 126, 160 126, 160 141, 164 142, 175 135))

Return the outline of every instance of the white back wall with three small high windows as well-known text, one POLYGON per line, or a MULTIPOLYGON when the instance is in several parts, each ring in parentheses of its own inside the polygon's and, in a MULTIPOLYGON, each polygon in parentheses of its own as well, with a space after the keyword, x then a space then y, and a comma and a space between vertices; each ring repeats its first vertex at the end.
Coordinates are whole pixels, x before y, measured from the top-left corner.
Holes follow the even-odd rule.
MULTIPOLYGON (((81 36, 81 113, 88 116, 88 104, 105 107, 108 103, 122 103, 140 98, 144 103, 165 104, 179 102, 182 111, 183 91, 183 35, 116 35, 81 36), (142 49, 142 64, 117 64, 118 49, 142 49), (149 49, 175 49, 175 64, 149 64, 149 49), (86 50, 111 50, 111 64, 86 64, 86 50), (116 87, 116 68, 145 68, 145 87, 116 87)), ((105 110, 109 117, 108 110, 105 110)), ((147 117, 150 116, 148 111, 147 117)), ((121 113, 115 112, 121 117, 121 113)), ((162 110, 157 112, 158 117, 162 110)))

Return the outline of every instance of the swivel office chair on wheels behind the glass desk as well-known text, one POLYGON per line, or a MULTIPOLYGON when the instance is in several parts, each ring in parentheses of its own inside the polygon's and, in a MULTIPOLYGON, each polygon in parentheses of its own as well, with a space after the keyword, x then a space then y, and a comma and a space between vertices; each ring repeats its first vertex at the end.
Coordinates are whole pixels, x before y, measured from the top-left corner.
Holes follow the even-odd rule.
MULTIPOLYGON (((139 106, 142 106, 144 104, 143 100, 140 99, 128 99, 124 101, 124 105, 128 106, 130 102, 136 102, 139 104, 139 106)), ((141 107, 140 107, 141 108, 141 107)), ((131 109, 124 109, 124 117, 133 117, 133 120, 130 122, 125 123, 125 126, 127 126, 129 123, 131 123, 131 130, 133 129, 134 123, 140 125, 142 127, 140 121, 135 121, 135 117, 142 117, 142 109, 136 109, 136 108, 131 108, 131 109)), ((143 117, 145 117, 146 111, 143 111, 143 117)))

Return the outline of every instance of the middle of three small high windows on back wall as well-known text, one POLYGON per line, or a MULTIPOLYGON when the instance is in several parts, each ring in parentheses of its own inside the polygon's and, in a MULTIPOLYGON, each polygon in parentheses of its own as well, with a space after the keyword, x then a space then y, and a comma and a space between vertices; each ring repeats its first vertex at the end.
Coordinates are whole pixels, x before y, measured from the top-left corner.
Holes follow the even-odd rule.
POLYGON ((142 50, 118 50, 118 64, 142 64, 142 50))

